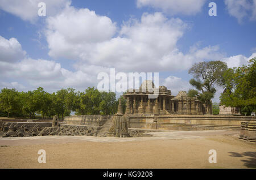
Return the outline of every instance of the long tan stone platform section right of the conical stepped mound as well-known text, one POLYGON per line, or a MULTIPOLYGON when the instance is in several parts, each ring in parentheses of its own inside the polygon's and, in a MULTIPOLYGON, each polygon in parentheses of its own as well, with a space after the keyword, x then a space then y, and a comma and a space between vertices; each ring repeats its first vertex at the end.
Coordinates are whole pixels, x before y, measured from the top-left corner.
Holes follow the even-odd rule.
POLYGON ((160 130, 240 130, 241 122, 255 121, 255 117, 234 115, 129 115, 129 127, 160 130))

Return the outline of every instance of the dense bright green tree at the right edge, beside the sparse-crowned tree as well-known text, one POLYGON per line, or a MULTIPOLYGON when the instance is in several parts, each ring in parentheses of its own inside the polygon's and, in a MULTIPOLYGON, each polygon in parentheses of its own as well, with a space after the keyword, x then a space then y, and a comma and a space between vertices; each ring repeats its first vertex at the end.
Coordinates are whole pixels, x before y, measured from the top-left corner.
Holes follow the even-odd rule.
POLYGON ((256 110, 256 57, 249 65, 229 68, 224 74, 225 91, 221 94, 221 104, 240 107, 243 114, 256 110))

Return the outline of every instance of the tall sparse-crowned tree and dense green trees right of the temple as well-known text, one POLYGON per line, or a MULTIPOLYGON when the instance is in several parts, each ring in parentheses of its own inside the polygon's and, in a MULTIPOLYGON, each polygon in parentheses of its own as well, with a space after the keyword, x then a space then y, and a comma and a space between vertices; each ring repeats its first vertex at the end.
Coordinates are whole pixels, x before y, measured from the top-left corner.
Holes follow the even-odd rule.
POLYGON ((228 68, 225 62, 209 61, 195 63, 188 71, 193 75, 189 83, 195 89, 189 89, 189 97, 197 97, 212 106, 213 114, 218 114, 218 104, 211 99, 216 93, 216 86, 225 91, 220 96, 221 105, 240 107, 241 113, 250 115, 256 111, 256 58, 250 59, 249 65, 228 68))

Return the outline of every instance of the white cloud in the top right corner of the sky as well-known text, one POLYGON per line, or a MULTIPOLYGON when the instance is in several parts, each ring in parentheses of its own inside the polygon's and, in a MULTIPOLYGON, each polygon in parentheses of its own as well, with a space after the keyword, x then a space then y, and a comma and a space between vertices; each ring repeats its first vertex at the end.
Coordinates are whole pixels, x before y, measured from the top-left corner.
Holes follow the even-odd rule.
POLYGON ((237 18, 239 23, 246 17, 256 20, 256 0, 225 0, 225 5, 229 14, 237 18))

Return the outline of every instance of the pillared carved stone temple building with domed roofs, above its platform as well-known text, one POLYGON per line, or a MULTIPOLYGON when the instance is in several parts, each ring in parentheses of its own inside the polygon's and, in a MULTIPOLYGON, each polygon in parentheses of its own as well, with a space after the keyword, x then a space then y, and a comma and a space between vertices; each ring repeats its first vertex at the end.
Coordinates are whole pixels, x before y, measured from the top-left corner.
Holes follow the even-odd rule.
POLYGON ((128 90, 123 97, 127 100, 125 114, 212 114, 210 107, 188 97, 185 91, 172 96, 171 90, 164 86, 155 88, 151 80, 144 81, 139 89, 128 90), (149 98, 157 91, 157 98, 149 98))

